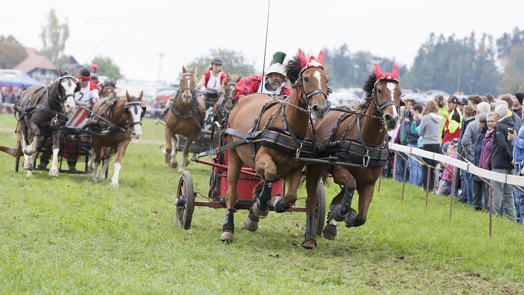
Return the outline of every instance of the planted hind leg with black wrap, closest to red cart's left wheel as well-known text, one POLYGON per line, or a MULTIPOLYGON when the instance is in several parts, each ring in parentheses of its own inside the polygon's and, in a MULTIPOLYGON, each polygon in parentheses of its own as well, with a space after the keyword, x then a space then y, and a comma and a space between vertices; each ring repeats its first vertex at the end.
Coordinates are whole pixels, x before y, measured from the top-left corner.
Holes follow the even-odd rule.
POLYGON ((222 225, 222 235, 220 240, 225 243, 233 243, 233 234, 235 232, 235 205, 238 197, 237 184, 240 170, 242 169, 242 160, 238 156, 236 149, 229 150, 229 162, 227 168, 227 193, 226 193, 226 218, 222 225))

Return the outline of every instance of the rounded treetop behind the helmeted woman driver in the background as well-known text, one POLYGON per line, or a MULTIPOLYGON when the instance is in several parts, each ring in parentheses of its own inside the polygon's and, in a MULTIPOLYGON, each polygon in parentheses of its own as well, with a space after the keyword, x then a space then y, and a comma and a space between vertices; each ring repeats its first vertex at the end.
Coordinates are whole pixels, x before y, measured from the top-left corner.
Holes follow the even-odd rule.
POLYGON ((229 72, 240 75, 241 77, 246 77, 255 73, 253 62, 247 60, 242 55, 242 52, 222 48, 211 49, 208 55, 203 55, 196 58, 185 67, 191 68, 194 66, 196 68, 196 73, 200 76, 205 71, 208 71, 209 67, 211 66, 211 59, 214 57, 222 58, 222 71, 225 73, 229 72))

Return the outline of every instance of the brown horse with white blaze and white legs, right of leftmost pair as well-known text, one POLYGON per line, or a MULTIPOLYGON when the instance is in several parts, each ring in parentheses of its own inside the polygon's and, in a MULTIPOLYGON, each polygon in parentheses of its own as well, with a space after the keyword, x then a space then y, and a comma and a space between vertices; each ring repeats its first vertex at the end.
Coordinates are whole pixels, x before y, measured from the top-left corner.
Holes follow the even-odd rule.
POLYGON ((127 145, 132 139, 140 138, 142 134, 142 118, 146 114, 146 107, 142 104, 143 91, 138 97, 132 97, 126 91, 125 96, 106 97, 93 104, 93 115, 89 126, 91 130, 101 133, 91 138, 91 160, 93 167, 92 180, 103 180, 107 166, 116 153, 116 159, 110 185, 118 186, 118 173, 122 167, 122 158, 126 153, 127 145), (108 148, 106 161, 99 175, 96 175, 102 162, 102 148, 108 148))

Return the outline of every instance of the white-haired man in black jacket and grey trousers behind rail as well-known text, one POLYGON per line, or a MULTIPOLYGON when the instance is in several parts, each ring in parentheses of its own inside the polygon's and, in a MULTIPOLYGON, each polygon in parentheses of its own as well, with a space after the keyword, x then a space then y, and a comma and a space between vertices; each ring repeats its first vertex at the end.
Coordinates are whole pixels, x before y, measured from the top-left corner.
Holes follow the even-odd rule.
MULTIPOLYGON (((508 117, 508 106, 499 104, 495 110, 494 119, 495 137, 492 143, 492 170, 502 174, 513 174, 515 163, 513 161, 513 146, 508 140, 508 129, 514 130, 515 124, 508 117)), ((493 213, 501 215, 500 205, 504 202, 504 213, 510 219, 515 219, 515 201, 513 199, 513 188, 509 184, 493 181, 493 213)))

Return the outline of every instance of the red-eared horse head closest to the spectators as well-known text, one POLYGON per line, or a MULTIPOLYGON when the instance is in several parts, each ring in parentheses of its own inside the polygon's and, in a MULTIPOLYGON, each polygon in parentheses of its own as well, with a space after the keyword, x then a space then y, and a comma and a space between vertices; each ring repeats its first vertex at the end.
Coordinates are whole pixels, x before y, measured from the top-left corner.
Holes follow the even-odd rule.
MULTIPOLYGON (((375 109, 381 115, 386 130, 397 127, 398 110, 401 105, 397 65, 393 66, 391 73, 383 73, 378 64, 375 64, 374 81, 371 97, 375 101, 375 109)), ((372 75, 373 76, 373 75, 372 75)), ((370 76, 370 78, 373 78, 370 76)))

